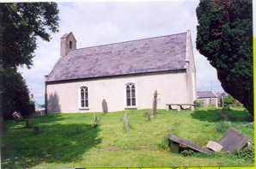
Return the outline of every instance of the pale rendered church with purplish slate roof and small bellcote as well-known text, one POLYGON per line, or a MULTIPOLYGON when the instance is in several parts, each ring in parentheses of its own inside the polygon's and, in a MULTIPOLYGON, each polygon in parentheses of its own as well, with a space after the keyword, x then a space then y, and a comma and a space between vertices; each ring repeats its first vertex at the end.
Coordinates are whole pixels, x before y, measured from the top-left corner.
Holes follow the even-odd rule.
POLYGON ((46 75, 46 111, 108 112, 193 104, 196 69, 190 31, 76 49, 73 33, 61 38, 60 58, 46 75))

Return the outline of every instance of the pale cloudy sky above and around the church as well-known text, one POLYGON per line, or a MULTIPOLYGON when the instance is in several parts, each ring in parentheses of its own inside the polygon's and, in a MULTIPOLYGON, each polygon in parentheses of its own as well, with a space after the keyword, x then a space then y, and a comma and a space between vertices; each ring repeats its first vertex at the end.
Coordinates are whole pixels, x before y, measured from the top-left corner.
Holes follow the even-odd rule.
POLYGON ((45 75, 49 75, 60 57, 60 38, 72 32, 76 48, 117 42, 192 33, 192 47, 197 71, 198 91, 223 92, 216 69, 196 49, 199 0, 166 1, 86 1, 58 2, 59 32, 51 33, 51 41, 38 39, 34 66, 20 68, 30 94, 45 104, 45 75))

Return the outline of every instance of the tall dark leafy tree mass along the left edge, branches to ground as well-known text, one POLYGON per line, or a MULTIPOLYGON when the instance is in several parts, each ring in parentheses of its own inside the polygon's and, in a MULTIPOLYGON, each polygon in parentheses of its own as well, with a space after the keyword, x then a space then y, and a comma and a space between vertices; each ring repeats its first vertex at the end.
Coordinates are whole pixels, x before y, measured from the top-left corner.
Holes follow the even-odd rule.
POLYGON ((0 3, 0 112, 33 112, 26 81, 17 72, 33 65, 37 38, 50 40, 58 32, 57 3, 0 3))

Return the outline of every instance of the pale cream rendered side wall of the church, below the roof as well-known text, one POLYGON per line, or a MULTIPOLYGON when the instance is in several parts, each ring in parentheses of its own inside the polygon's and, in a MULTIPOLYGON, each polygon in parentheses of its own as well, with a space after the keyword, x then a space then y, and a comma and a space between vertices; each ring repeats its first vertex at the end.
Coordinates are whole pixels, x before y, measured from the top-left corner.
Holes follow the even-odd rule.
POLYGON ((137 109, 151 109, 157 90, 158 109, 166 104, 189 103, 192 91, 187 88, 186 73, 131 75, 97 80, 47 84, 48 112, 102 112, 101 102, 107 101, 108 112, 125 110, 125 84, 136 85, 137 109), (88 87, 88 109, 79 108, 79 88, 88 87))

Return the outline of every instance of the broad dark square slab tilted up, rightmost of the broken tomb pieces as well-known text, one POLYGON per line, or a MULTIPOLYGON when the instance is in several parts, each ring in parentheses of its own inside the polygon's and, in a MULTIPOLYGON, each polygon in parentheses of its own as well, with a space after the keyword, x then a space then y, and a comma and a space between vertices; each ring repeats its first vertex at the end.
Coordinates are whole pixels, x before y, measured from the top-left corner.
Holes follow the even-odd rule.
POLYGON ((229 131, 224 136, 222 136, 218 143, 222 145, 223 151, 231 153, 235 150, 240 151, 247 145, 248 141, 248 136, 244 135, 238 130, 230 128, 229 131))

